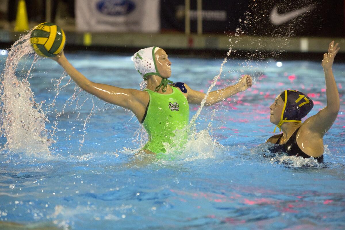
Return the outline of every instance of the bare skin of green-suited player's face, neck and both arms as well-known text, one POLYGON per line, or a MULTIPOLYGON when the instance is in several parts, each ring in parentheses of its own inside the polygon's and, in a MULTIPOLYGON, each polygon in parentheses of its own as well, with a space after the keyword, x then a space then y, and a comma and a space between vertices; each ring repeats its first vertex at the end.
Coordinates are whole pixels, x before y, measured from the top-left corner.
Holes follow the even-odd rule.
MULTIPOLYGON (((144 117, 146 107, 149 103, 149 94, 146 91, 140 91, 136 89, 122 89, 115 86, 110 86, 107 84, 101 84, 92 82, 87 79, 82 73, 76 70, 66 59, 63 51, 59 53, 56 57, 52 58, 57 61, 61 67, 69 74, 69 76, 75 81, 80 88, 88 93, 112 104, 124 107, 131 110, 137 119, 141 122, 144 117)), ((161 77, 169 78, 171 76, 171 62, 168 59, 167 53, 163 49, 159 49, 155 53, 155 60, 157 70, 161 77)), ((116 74, 116 73, 114 73, 116 74)), ((154 91, 157 86, 160 85, 161 77, 156 75, 150 75, 147 77, 147 88, 154 91)), ((207 97, 206 106, 215 104, 219 101, 225 100, 226 98, 246 90, 252 86, 252 78, 249 75, 244 75, 238 83, 233 86, 228 86, 224 89, 212 91, 207 97)), ((191 89, 187 84, 185 84, 187 93, 183 95, 187 98, 190 104, 200 104, 205 98, 205 93, 195 91, 191 89)), ((180 90, 179 88, 177 88, 180 90)), ((172 93, 171 86, 167 87, 166 92, 162 92, 161 89, 157 91, 161 94, 172 93)))

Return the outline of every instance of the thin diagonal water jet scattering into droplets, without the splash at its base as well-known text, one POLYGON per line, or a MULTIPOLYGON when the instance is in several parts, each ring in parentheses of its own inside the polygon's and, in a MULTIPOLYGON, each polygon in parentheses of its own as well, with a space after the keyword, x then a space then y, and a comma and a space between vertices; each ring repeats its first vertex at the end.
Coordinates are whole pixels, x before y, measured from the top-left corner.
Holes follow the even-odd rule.
MULTIPOLYGON (((248 5, 248 9, 250 9, 253 12, 258 11, 256 9, 257 7, 258 7, 258 4, 255 0, 251 1, 248 5)), ((260 4, 260 7, 268 11, 271 9, 272 4, 269 2, 264 2, 263 4, 260 4)), ((287 25, 288 29, 287 28, 279 29, 279 30, 275 30, 272 34, 263 35, 262 31, 265 28, 260 28, 260 26, 257 25, 257 22, 262 17, 262 14, 260 15, 260 13, 253 13, 253 12, 250 12, 250 10, 246 11, 243 17, 238 20, 238 25, 235 32, 229 34, 228 52, 226 53, 226 57, 223 63, 221 63, 220 65, 219 74, 215 76, 214 79, 212 80, 207 90, 207 93, 205 95, 205 98, 201 102, 199 109, 197 110, 196 114, 193 116, 193 118, 191 119, 189 123, 189 129, 190 129, 189 140, 193 139, 193 136, 195 136, 196 134, 195 122, 197 118, 199 117, 201 110, 204 108, 209 92, 217 84, 217 81, 220 80, 221 73, 223 72, 223 66, 227 62, 227 57, 232 57, 232 58, 238 57, 239 52, 236 52, 237 51, 236 49, 243 46, 243 44, 241 44, 241 39, 245 36, 245 34, 248 33, 248 31, 251 31, 252 33, 251 35, 256 36, 256 39, 253 40, 252 43, 256 44, 257 49, 240 52, 240 57, 241 58, 244 57, 244 61, 238 63, 239 68, 236 71, 240 74, 250 73, 250 75, 253 78, 253 84, 255 84, 260 80, 260 76, 263 76, 262 72, 260 71, 263 68, 262 65, 269 63, 269 59, 271 58, 278 58, 284 52, 284 48, 288 46, 288 43, 290 41, 289 37, 294 36, 297 32, 297 29, 303 23, 301 21, 292 20, 287 25), (269 42, 276 43, 277 49, 266 50, 267 42, 268 42, 266 37, 269 37, 269 42)), ((228 73, 231 73, 231 72, 229 71, 228 73)), ((224 76, 226 76, 226 74, 224 74, 224 76)), ((243 97, 243 93, 239 97, 243 97)), ((239 99, 240 98, 238 98, 238 100, 239 99)), ((237 103, 237 102, 235 101, 234 103, 237 103)), ((212 120, 215 117, 216 109, 214 109, 210 114, 211 114, 210 118, 212 120)), ((212 129, 213 127, 210 122, 207 130, 211 132, 212 129)))

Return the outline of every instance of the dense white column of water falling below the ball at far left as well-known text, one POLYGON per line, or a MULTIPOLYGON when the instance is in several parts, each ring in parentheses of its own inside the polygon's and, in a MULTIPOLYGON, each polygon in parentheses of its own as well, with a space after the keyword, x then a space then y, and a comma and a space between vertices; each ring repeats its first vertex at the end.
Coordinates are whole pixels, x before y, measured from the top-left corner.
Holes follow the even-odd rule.
MULTIPOLYGON (((37 54, 23 80, 16 76, 19 61, 33 53, 30 33, 22 36, 11 47, 6 66, 1 74, 1 134, 6 137, 4 147, 11 151, 27 153, 49 153, 50 140, 47 139, 45 122, 48 118, 41 109, 43 102, 36 102, 27 81, 33 64, 39 59, 37 54)), ((17 73, 18 74, 18 73, 17 73)))

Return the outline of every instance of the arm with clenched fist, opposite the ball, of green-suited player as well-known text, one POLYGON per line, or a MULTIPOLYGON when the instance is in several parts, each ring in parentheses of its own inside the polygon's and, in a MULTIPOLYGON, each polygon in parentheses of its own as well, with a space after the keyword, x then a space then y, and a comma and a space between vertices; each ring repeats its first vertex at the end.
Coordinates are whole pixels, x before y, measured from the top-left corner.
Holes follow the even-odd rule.
MULTIPOLYGON (((185 84, 188 92, 187 100, 190 104, 200 104, 201 101, 205 98, 205 93, 195 91, 190 89, 185 84)), ((249 87, 252 86, 252 77, 249 75, 244 75, 237 84, 234 84, 233 86, 228 86, 224 89, 219 89, 215 91, 211 91, 208 94, 208 97, 206 99, 205 106, 211 106, 219 101, 223 101, 226 98, 233 96, 234 94, 238 92, 242 92, 249 87)))

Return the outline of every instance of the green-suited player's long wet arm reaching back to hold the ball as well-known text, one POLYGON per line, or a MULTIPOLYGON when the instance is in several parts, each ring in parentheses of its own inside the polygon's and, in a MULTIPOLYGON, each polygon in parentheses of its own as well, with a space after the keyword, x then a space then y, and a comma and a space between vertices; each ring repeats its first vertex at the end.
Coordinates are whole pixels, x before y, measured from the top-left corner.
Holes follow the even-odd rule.
POLYGON ((135 95, 141 91, 135 89, 122 89, 107 84, 95 83, 88 80, 83 74, 76 70, 65 57, 63 51, 52 58, 57 61, 68 75, 75 81, 80 88, 88 93, 112 104, 132 110, 135 103, 135 95))

